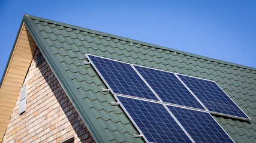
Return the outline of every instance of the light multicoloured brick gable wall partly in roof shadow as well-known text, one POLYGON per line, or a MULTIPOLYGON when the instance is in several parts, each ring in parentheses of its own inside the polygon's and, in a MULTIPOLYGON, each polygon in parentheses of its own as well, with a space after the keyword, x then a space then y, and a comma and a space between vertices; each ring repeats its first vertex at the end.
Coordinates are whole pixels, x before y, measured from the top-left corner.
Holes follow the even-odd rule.
POLYGON ((19 114, 18 97, 2 142, 94 142, 46 61, 35 66, 33 58, 25 84, 26 112, 19 114))

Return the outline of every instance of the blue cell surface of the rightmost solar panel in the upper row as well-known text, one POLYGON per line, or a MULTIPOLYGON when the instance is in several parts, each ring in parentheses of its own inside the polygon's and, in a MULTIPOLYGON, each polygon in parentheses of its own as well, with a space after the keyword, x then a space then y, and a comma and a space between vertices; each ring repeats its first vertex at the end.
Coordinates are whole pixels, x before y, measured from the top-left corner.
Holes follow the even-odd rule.
POLYGON ((248 119, 245 113, 212 81, 177 74, 209 111, 248 119))

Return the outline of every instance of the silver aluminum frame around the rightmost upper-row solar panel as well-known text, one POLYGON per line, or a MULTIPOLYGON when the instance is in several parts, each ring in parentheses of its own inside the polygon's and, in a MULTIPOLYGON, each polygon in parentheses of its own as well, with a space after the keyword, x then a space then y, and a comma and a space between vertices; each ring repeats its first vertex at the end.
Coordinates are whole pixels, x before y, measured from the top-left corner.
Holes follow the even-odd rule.
MULTIPOLYGON (((185 74, 180 74, 180 73, 176 73, 176 74, 179 74, 179 75, 182 75, 182 76, 188 76, 188 75, 185 75, 185 74)), ((178 76, 177 76, 178 77, 178 76)), ((194 77, 194 76, 188 76, 188 77, 193 77, 193 78, 196 78, 196 79, 201 79, 201 80, 208 80, 208 81, 210 81, 210 82, 214 82, 214 83, 216 83, 215 81, 213 81, 213 80, 209 80, 209 79, 202 79, 202 78, 200 78, 200 77, 194 77)), ((181 80, 181 79, 180 79, 181 80)), ((227 93, 216 83, 216 85, 225 93, 225 95, 227 95, 227 93)), ((189 89, 189 91, 190 91, 190 89, 189 89)), ((192 92, 192 91, 191 91, 192 92)), ((194 94, 194 93, 193 93, 194 94)), ((195 95, 196 96, 196 95, 195 95)), ((227 95, 227 97, 228 98, 230 98, 230 96, 228 96, 227 95)), ((230 100, 231 101, 233 101, 231 98, 230 98, 230 100)), ((234 101, 233 101, 234 102, 234 101)), ((236 104, 236 102, 234 102, 234 104, 236 104)), ((241 110, 241 111, 243 111, 237 104, 236 104, 236 106, 241 110)), ((251 118, 243 111, 243 113, 248 117, 248 119, 247 118, 243 118, 243 117, 238 117, 238 116, 231 116, 231 115, 228 115, 228 114, 222 114, 222 113, 217 113, 217 112, 214 112, 214 111, 209 111, 208 109, 207 109, 207 111, 210 113, 210 114, 216 114, 216 115, 221 115, 221 116, 225 116, 225 117, 231 117, 231 118, 235 118, 235 119, 240 119, 240 120, 246 120, 246 121, 250 121, 251 120, 251 118)))

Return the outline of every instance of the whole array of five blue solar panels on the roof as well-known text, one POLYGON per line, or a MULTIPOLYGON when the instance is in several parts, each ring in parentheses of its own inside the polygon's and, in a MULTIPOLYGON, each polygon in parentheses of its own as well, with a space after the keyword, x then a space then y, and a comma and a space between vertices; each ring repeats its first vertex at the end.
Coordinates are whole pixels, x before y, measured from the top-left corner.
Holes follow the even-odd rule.
POLYGON ((233 142, 209 113, 249 119, 213 81, 87 57, 146 141, 233 142))

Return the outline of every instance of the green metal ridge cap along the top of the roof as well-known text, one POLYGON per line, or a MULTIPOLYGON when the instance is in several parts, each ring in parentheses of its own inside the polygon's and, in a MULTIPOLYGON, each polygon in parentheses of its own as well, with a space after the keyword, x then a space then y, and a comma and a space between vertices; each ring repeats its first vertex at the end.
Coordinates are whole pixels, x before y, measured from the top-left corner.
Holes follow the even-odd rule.
POLYGON ((215 58, 204 57, 202 55, 192 54, 192 53, 189 53, 189 52, 179 51, 177 49, 167 48, 165 46, 159 46, 159 45, 155 45, 155 44, 152 44, 152 43, 137 41, 137 40, 130 39, 130 38, 125 38, 125 37, 122 37, 122 36, 117 36, 117 35, 112 35, 112 34, 109 34, 109 33, 99 32, 97 30, 86 29, 84 27, 74 26, 74 25, 66 24, 66 23, 61 23, 59 21, 49 20, 49 19, 46 19, 46 18, 35 17, 33 15, 24 14, 24 16, 27 17, 27 18, 35 19, 35 20, 45 21, 47 23, 57 24, 57 25, 64 26, 64 27, 70 27, 71 29, 82 30, 82 31, 85 31, 85 32, 95 33, 97 35, 102 35, 102 36, 108 36, 110 38, 120 39, 120 40, 127 41, 127 42, 132 41, 133 43, 138 43, 138 44, 141 44, 141 45, 152 46, 154 48, 159 48, 159 49, 164 49, 164 50, 168 50, 168 51, 172 51, 172 52, 177 52, 179 54, 189 55, 191 57, 201 58, 203 60, 209 60, 209 61, 213 61, 213 62, 216 62, 216 63, 222 63, 222 64, 227 64, 227 65, 230 65, 230 66, 242 67, 243 69, 249 69, 249 70, 255 70, 256 71, 256 68, 254 68, 254 67, 243 66, 243 65, 236 64, 236 63, 231 63, 231 62, 228 62, 228 61, 223 61, 223 60, 218 60, 218 59, 215 59, 215 58))

